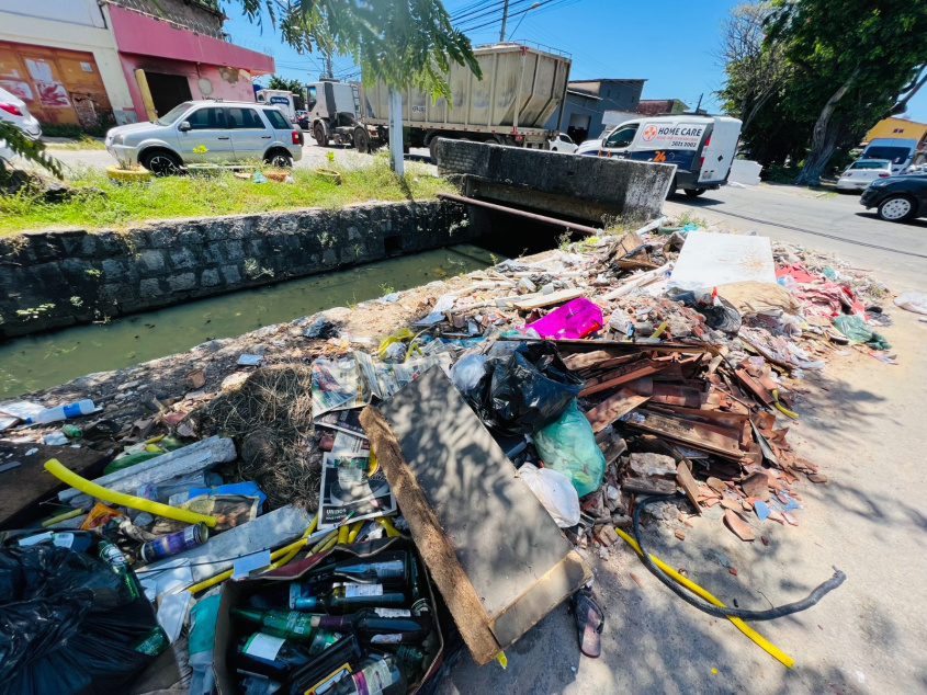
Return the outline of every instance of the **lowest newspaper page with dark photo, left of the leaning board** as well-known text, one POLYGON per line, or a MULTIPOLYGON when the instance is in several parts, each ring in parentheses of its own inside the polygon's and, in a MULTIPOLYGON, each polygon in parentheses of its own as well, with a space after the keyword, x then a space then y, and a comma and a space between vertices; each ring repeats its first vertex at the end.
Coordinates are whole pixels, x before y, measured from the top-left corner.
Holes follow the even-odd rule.
POLYGON ((396 498, 383 470, 377 468, 370 475, 370 449, 364 451, 361 443, 346 440, 339 444, 336 438, 335 447, 326 452, 321 460, 318 527, 334 526, 348 514, 353 522, 395 512, 396 498))

